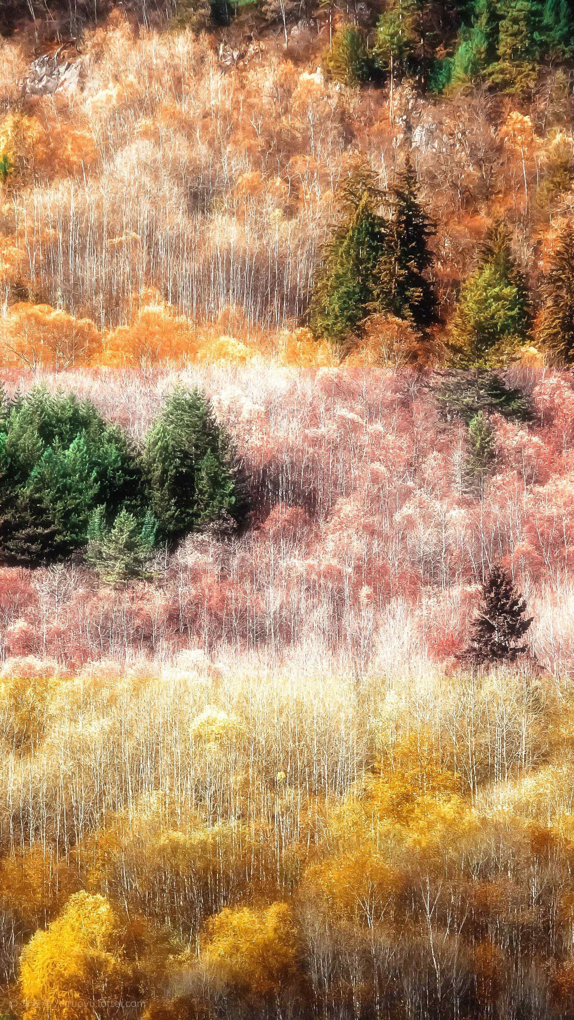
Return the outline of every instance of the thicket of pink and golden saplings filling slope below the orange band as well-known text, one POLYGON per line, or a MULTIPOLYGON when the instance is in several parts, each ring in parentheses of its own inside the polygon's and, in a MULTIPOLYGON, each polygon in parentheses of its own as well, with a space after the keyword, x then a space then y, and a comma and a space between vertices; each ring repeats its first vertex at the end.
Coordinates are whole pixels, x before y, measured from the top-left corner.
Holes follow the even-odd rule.
POLYGON ((513 369, 530 421, 490 416, 478 489, 405 370, 45 377, 135 439, 175 381, 228 427, 251 527, 153 581, 2 570, 6 1011, 567 1016, 570 376, 513 369), (461 669, 501 561, 533 655, 461 669))

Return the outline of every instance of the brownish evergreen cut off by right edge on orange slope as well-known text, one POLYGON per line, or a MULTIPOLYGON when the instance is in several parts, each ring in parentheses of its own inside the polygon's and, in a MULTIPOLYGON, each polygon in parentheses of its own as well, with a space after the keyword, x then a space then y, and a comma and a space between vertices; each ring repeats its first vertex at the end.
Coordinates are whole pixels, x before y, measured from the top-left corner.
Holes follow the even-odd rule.
POLYGON ((561 231, 543 288, 538 337, 558 364, 574 364, 574 231, 561 231))

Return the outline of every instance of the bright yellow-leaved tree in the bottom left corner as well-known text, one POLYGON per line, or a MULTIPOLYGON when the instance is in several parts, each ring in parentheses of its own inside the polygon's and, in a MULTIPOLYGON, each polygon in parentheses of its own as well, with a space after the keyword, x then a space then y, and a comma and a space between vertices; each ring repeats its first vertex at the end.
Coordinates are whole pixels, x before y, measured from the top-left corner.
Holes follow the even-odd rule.
POLYGON ((157 964, 143 922, 127 923, 102 896, 75 892, 22 951, 24 1020, 107 1020, 133 1012, 157 964))

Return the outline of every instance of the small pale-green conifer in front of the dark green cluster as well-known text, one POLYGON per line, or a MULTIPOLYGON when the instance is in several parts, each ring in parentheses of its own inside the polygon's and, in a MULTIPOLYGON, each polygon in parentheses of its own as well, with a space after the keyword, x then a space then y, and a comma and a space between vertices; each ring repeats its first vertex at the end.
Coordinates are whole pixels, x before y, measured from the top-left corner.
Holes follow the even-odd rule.
POLYGON ((88 528, 86 560, 109 584, 148 579, 156 531, 157 522, 150 513, 142 524, 134 514, 120 510, 110 527, 105 507, 97 507, 88 528))

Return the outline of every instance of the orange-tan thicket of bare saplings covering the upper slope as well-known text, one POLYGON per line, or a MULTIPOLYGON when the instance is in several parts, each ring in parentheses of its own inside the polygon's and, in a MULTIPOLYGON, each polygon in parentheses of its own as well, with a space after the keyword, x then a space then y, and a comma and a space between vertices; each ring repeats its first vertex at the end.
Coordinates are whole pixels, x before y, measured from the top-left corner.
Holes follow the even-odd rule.
MULTIPOLYGON (((424 94, 408 79, 390 93, 316 70, 325 30, 294 35, 286 53, 271 38, 229 68, 211 37, 114 18, 86 30, 79 84, 49 96, 22 92, 25 33, 1 43, 5 364, 245 359, 262 346, 324 362, 305 330, 280 330, 307 311, 352 168, 366 162, 386 187, 407 150, 437 226, 442 318, 497 216, 536 297, 570 213, 568 67, 542 67, 520 96, 424 94)), ((390 347, 408 354, 408 329, 390 347)))

